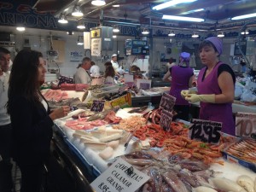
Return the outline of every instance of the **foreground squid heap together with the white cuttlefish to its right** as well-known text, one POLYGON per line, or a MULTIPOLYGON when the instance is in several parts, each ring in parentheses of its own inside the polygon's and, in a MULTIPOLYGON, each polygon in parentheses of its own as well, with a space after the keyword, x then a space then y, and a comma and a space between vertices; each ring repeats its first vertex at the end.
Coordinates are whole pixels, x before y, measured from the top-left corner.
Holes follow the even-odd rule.
POLYGON ((255 192, 251 177, 241 175, 237 181, 219 177, 221 172, 195 158, 154 150, 133 151, 119 158, 150 177, 137 192, 255 192))

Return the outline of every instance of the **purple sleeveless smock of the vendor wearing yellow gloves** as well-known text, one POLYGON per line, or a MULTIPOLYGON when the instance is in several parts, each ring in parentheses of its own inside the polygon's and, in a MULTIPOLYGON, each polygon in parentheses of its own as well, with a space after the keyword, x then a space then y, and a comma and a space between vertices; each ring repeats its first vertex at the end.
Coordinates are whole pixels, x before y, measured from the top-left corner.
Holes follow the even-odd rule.
MULTIPOLYGON (((218 86, 218 67, 222 62, 212 69, 212 72, 204 77, 207 67, 201 69, 197 79, 198 94, 221 94, 220 87, 218 86)), ((232 114, 232 103, 210 103, 200 102, 200 119, 222 122, 222 131, 230 135, 235 135, 235 121, 232 114)))

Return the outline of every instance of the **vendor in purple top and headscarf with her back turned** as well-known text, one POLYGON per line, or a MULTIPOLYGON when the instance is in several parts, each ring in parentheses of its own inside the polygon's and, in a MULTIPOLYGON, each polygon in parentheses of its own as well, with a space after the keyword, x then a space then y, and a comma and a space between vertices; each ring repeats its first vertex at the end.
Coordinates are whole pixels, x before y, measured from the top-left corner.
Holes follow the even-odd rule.
POLYGON ((190 54, 182 52, 179 55, 179 64, 170 67, 163 78, 164 81, 172 82, 169 94, 176 97, 173 109, 177 112, 176 118, 183 120, 189 120, 189 102, 183 99, 180 92, 189 89, 194 79, 194 72, 193 69, 189 67, 189 60, 190 54), (172 77, 172 80, 169 79, 170 77, 172 77))

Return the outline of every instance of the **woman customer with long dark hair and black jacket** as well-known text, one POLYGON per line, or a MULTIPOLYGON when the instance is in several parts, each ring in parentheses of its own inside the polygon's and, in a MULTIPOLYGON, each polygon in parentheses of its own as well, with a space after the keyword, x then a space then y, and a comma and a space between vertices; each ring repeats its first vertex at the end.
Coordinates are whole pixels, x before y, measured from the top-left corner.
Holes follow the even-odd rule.
POLYGON ((70 110, 65 106, 50 113, 39 89, 45 73, 42 53, 27 49, 16 55, 10 73, 7 110, 13 127, 12 156, 21 172, 20 192, 40 191, 53 120, 70 110))

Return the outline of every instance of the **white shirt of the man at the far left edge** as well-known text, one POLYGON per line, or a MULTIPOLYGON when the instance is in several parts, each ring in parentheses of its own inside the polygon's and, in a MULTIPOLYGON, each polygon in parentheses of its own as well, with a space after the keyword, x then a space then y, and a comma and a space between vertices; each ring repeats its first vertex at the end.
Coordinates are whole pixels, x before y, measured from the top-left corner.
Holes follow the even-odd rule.
POLYGON ((8 102, 9 73, 0 76, 0 125, 9 125, 10 117, 7 113, 6 102, 8 102))

